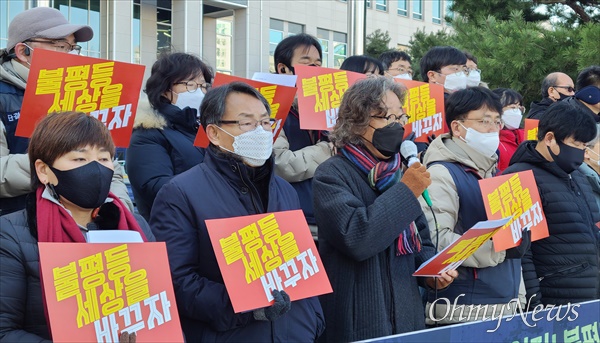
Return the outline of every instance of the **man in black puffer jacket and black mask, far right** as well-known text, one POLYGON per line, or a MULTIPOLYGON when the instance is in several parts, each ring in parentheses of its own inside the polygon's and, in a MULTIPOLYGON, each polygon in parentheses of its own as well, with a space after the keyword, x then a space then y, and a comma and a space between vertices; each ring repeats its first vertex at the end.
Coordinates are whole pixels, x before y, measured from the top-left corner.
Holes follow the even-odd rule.
POLYGON ((523 278, 531 304, 560 305, 599 298, 600 213, 593 191, 577 169, 586 143, 596 137, 594 120, 562 102, 541 118, 538 141, 517 149, 505 174, 532 170, 550 236, 531 243, 523 278))

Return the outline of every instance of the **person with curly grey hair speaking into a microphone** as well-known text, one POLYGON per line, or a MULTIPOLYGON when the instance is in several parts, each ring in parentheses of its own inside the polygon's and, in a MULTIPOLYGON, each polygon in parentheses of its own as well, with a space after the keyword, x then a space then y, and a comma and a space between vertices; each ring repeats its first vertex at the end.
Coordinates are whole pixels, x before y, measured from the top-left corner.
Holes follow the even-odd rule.
MULTIPOLYGON (((319 253, 333 287, 321 297, 325 341, 425 328, 418 284, 434 287, 435 280, 412 273, 434 254, 417 201, 431 181, 420 163, 400 170, 405 95, 383 77, 350 87, 330 134, 338 155, 315 173, 319 253)), ((438 288, 455 276, 442 274, 438 288)))

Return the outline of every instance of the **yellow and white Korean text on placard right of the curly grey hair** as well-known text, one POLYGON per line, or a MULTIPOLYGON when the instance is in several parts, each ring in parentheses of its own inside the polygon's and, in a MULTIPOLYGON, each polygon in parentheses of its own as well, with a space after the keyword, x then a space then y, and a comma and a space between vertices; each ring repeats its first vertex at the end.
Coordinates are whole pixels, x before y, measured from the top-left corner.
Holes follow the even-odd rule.
POLYGON ((428 84, 413 87, 408 90, 407 112, 415 137, 429 135, 430 132, 441 130, 442 114, 436 113, 436 99, 430 97, 428 84))

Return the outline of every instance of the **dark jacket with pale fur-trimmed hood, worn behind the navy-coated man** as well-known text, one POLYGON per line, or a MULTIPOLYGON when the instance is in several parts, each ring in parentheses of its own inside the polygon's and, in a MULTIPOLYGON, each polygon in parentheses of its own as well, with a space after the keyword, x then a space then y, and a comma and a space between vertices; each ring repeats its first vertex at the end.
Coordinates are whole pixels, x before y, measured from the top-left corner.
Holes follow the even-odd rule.
POLYGON ((197 132, 195 109, 162 103, 153 110, 140 102, 125 168, 137 209, 146 220, 160 188, 202 162, 204 149, 194 146, 197 132))

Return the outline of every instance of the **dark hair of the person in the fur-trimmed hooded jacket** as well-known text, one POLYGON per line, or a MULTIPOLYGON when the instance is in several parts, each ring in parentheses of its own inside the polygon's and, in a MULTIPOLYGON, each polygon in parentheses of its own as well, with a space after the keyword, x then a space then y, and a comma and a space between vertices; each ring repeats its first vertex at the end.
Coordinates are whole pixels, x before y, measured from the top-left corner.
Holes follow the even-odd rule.
POLYGON ((161 103, 171 101, 163 96, 175 82, 195 79, 202 75, 208 83, 212 82, 213 73, 210 67, 200 58, 183 52, 163 52, 152 65, 152 71, 144 92, 154 109, 161 103))

